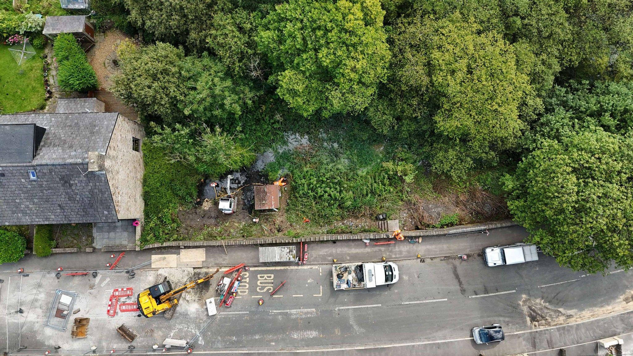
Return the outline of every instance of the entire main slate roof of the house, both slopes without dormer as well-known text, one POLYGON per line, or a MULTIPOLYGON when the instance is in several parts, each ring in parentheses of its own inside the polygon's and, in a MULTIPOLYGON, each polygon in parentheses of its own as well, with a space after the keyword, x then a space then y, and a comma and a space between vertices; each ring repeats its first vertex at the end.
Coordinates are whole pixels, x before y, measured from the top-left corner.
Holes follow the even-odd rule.
MULTIPOLYGON (((88 171, 88 152, 106 153, 118 113, 0 115, 0 125, 46 132, 32 163, 0 162, 0 225, 117 220, 104 172, 88 171), (37 179, 28 177, 35 170, 37 179)), ((0 146, 3 146, 0 136, 0 146)), ((32 139, 31 139, 32 142, 32 139)))

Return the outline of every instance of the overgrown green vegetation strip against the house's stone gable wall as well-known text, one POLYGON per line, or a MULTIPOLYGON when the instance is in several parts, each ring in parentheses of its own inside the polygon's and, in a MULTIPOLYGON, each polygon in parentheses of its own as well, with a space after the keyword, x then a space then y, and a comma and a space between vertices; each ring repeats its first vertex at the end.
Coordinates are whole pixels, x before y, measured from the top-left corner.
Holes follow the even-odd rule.
POLYGON ((179 207, 191 208, 202 175, 182 162, 170 162, 165 152, 144 141, 143 198, 145 226, 141 245, 172 241, 178 238, 179 207))

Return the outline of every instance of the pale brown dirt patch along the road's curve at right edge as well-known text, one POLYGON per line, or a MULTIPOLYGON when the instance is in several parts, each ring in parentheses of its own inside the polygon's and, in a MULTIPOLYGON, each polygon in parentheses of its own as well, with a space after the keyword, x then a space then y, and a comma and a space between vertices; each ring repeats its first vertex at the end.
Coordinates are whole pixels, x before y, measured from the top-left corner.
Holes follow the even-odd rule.
POLYGON ((611 305, 600 308, 589 308, 586 310, 565 310, 563 308, 552 308, 542 299, 534 300, 523 295, 521 307, 525 313, 527 321, 533 327, 549 327, 571 324, 574 322, 584 322, 597 317, 610 314, 618 314, 633 310, 633 305, 627 305, 626 296, 630 296, 631 291, 627 291, 621 298, 611 305))

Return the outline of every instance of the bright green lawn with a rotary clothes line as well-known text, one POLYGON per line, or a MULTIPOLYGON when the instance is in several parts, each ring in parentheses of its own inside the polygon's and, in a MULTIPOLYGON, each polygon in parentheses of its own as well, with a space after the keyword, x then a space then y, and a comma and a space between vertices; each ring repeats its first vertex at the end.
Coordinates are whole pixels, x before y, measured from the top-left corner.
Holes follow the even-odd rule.
POLYGON ((9 46, 0 44, 0 113, 20 113, 44 108, 41 50, 18 66, 9 46))

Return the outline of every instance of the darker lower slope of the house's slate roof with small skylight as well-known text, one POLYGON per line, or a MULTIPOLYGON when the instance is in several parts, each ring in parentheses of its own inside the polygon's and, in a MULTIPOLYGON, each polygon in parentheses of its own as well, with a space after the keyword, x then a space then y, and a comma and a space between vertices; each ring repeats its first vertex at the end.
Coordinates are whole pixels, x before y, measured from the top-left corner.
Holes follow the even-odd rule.
POLYGON ((0 224, 116 221, 106 174, 87 170, 88 163, 0 167, 0 224))

